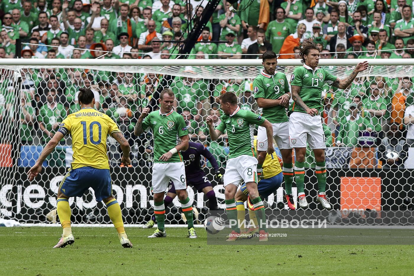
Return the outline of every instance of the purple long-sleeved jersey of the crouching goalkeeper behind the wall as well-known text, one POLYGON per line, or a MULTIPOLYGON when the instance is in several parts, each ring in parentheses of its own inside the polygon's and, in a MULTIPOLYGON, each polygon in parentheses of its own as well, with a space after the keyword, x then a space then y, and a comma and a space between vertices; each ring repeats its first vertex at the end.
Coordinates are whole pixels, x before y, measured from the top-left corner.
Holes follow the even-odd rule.
POLYGON ((185 165, 185 176, 187 178, 204 174, 201 168, 200 156, 204 156, 210 161, 214 171, 219 170, 216 158, 200 143, 188 142, 188 150, 181 151, 185 165))

